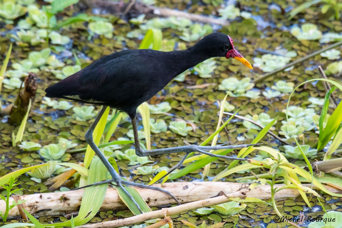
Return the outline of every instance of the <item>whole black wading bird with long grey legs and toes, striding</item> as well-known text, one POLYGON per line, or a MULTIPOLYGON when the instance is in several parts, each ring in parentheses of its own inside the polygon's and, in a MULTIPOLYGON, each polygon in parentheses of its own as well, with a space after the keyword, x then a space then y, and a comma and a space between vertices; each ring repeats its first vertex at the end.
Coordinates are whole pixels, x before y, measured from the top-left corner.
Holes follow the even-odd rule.
MULTIPOLYGON (((241 158, 214 155, 204 150, 242 148, 250 145, 190 145, 165 149, 144 150, 139 144, 135 122, 137 107, 152 98, 177 75, 212 57, 232 57, 252 69, 251 64, 234 48, 233 40, 223 33, 215 32, 204 37, 194 46, 184 51, 161 52, 141 49, 125 50, 104 56, 86 68, 74 73, 45 90, 47 93, 45 96, 47 97, 65 98, 82 103, 103 106, 94 123, 87 131, 85 138, 90 147, 95 151, 96 155, 107 167, 112 180, 96 184, 113 181, 119 187, 122 187, 122 184, 124 184, 151 188, 166 192, 173 197, 170 192, 158 187, 145 186, 143 184, 122 180, 119 174, 114 170, 113 166, 110 165, 101 151, 97 148, 93 141, 93 131, 107 106, 126 112, 131 118, 134 132, 135 152, 138 156, 161 155, 173 152, 186 152, 186 155, 188 155, 190 152, 197 151, 214 157, 245 160, 241 158)), ((177 164, 176 167, 180 167, 184 159, 177 164)), ((173 167, 172 169, 175 169, 176 167, 173 167)), ((123 187, 122 189, 140 209, 132 196, 123 187)))

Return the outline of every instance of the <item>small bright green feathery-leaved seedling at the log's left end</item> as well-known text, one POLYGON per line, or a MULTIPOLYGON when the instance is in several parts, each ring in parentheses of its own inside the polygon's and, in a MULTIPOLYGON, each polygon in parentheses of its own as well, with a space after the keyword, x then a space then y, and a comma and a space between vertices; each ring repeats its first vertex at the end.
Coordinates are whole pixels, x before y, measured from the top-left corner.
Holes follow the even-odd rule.
POLYGON ((0 212, 0 216, 3 220, 3 222, 5 223, 6 220, 7 220, 7 216, 8 216, 8 213, 9 211, 15 207, 16 205, 18 204, 22 204, 24 203, 26 200, 18 200, 17 202, 15 202, 14 200, 12 201, 12 204, 10 204, 10 196, 18 191, 21 191, 23 190, 23 188, 16 188, 16 189, 13 189, 13 187, 19 185, 19 184, 16 184, 17 180, 15 180, 13 177, 10 178, 9 181, 3 183, 3 184, 0 184, 0 186, 6 190, 6 197, 3 196, 2 194, 0 194, 0 199, 2 199, 3 201, 6 202, 6 210, 5 211, 1 211, 0 212))

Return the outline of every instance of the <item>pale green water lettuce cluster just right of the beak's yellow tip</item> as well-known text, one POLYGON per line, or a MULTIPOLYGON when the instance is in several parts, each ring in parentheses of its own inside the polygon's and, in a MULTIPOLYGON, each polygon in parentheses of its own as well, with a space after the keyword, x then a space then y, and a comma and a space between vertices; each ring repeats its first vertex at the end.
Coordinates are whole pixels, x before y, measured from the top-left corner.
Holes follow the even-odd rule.
MULTIPOLYGON (((291 57, 284 57, 279 55, 264 54, 253 58, 253 67, 258 67, 264 72, 272 72, 276 69, 286 66, 291 61, 291 57)), ((285 71, 290 70, 286 69, 285 71)))

